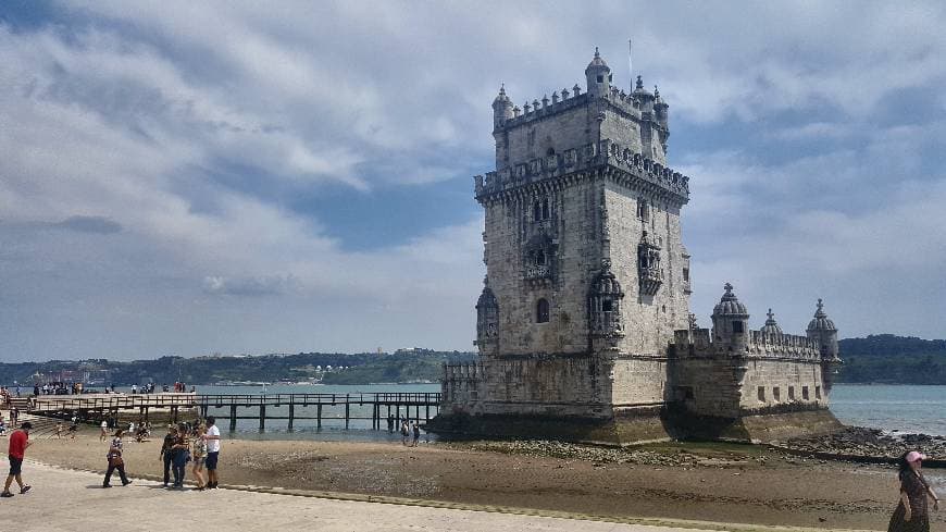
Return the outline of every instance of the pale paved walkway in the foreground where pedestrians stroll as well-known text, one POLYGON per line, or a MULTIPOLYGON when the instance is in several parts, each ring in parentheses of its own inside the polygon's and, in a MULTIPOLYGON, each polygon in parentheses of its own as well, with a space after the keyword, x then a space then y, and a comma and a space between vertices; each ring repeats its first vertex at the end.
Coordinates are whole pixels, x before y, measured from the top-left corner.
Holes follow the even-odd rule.
MULTIPOLYGON (((113 479, 101 487, 99 474, 42 466, 27 460, 26 495, 0 499, 10 530, 183 530, 269 531, 552 531, 674 532, 684 529, 432 508, 402 504, 335 500, 254 493, 248 490, 169 491, 149 480, 122 487, 113 479), (199 520, 199 521, 198 521, 199 520), (198 527, 198 523, 201 525, 198 527)), ((14 483, 14 487, 15 487, 14 483)), ((690 531, 694 529, 689 529, 690 531)))

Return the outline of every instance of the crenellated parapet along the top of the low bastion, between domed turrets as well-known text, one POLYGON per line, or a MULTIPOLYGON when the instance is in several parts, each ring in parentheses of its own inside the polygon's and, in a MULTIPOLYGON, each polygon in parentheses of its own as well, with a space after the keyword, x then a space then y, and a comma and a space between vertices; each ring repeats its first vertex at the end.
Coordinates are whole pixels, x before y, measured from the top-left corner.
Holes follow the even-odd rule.
POLYGON ((674 332, 677 357, 715 357, 742 355, 749 358, 792 358, 820 360, 818 342, 797 334, 771 334, 761 331, 746 332, 745 351, 730 352, 732 344, 713 341, 709 329, 679 330, 674 332))

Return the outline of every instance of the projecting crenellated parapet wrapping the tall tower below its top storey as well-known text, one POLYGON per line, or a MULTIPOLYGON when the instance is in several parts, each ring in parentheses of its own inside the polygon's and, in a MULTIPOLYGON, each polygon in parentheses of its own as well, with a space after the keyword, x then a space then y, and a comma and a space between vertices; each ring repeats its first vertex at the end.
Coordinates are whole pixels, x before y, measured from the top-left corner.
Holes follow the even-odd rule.
POLYGON ((610 139, 536 158, 512 168, 487 172, 485 176, 476 175, 474 176, 476 200, 483 203, 491 196, 524 185, 607 165, 627 172, 633 177, 670 195, 681 205, 689 200, 688 176, 630 148, 623 148, 610 139))

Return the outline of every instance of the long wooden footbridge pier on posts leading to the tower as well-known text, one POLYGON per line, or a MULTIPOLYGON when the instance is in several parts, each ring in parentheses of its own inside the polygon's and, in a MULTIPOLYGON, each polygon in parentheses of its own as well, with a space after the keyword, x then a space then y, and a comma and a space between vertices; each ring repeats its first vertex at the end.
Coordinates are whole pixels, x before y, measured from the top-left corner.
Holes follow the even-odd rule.
POLYGON ((38 416, 73 413, 86 420, 101 420, 119 412, 137 410, 148 420, 152 411, 161 410, 176 422, 183 412, 196 410, 197 416, 213 416, 228 420, 235 431, 237 420, 259 420, 260 430, 269 421, 285 420, 294 430, 298 420, 314 420, 316 429, 323 421, 337 420, 348 429, 352 420, 371 420, 372 430, 387 426, 387 419, 428 421, 439 411, 439 393, 356 393, 356 394, 95 394, 43 395, 32 399, 29 412, 38 416), (370 409, 370 413, 365 409, 370 409), (240 411, 242 409, 242 411, 240 411))

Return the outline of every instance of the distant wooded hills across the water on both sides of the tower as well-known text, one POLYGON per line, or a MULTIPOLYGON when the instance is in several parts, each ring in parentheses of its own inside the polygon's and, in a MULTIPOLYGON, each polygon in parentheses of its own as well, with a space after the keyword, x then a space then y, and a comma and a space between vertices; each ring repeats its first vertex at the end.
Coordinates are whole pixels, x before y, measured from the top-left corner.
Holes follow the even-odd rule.
MULTIPOLYGON (((871 335, 838 342, 844 364, 837 382, 889 384, 946 384, 946 341, 871 335)), ((374 352, 299 352, 256 357, 161 357, 130 362, 104 359, 48 362, 0 363, 0 383, 14 381, 32 385, 37 373, 55 374, 63 370, 108 370, 105 384, 122 386, 177 381, 188 384, 213 384, 224 381, 307 381, 321 379, 325 384, 373 384, 436 382, 444 362, 469 361, 475 357, 464 351, 412 349, 394 355, 374 352), (346 367, 345 371, 325 371, 346 367), (319 368, 321 367, 321 371, 319 368)))

